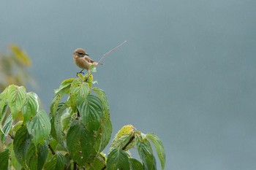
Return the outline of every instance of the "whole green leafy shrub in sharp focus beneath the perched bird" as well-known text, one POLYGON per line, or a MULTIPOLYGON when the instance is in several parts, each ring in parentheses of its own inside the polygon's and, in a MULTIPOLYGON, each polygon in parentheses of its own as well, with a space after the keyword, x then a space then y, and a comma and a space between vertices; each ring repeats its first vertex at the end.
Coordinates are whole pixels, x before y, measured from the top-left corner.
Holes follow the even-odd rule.
POLYGON ((108 155, 102 152, 112 134, 110 106, 105 91, 93 85, 92 74, 61 82, 49 115, 36 93, 17 85, 5 88, 0 94, 0 169, 157 169, 152 145, 165 169, 161 140, 132 125, 118 131, 108 155), (132 158, 133 149, 140 161, 132 158))

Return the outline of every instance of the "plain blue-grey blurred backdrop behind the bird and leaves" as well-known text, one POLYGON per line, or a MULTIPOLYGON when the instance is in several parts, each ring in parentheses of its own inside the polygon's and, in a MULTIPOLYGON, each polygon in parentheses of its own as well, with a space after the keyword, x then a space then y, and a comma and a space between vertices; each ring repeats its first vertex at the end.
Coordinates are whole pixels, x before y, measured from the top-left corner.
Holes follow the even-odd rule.
MULTIPOLYGON (((26 50, 28 85, 49 112, 83 47, 123 125, 154 132, 166 169, 256 169, 256 1, 2 1, 0 53, 26 50), (34 83, 32 83, 34 84, 34 83)), ((2 61, 1 61, 2 62, 2 61)), ((3 79, 1 79, 3 81, 3 79)), ((159 165, 158 165, 159 167, 159 165)))

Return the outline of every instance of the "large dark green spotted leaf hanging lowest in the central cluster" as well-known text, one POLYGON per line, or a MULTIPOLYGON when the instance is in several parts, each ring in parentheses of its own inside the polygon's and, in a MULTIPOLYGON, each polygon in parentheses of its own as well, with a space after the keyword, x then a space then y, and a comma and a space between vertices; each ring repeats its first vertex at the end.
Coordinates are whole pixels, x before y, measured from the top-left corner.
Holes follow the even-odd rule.
POLYGON ((94 148, 94 136, 79 120, 73 120, 67 132, 67 147, 74 161, 84 166, 94 148))

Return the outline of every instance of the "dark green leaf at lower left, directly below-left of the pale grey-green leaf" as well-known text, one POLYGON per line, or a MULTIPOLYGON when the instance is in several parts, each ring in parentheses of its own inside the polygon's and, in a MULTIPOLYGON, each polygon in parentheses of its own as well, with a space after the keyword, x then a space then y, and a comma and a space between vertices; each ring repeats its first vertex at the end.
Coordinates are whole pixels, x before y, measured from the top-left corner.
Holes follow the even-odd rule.
MULTIPOLYGON (((26 152, 31 145, 31 135, 29 134, 26 126, 21 126, 15 134, 13 140, 13 150, 15 152, 15 157, 18 162, 25 166, 25 156, 26 152)), ((34 145, 34 144, 33 144, 34 145)))

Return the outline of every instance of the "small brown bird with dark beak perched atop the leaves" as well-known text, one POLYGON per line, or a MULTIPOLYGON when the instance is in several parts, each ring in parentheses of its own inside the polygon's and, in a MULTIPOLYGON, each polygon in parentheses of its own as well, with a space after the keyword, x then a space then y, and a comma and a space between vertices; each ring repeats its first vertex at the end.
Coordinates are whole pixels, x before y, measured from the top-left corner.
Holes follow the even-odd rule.
POLYGON ((93 61, 91 58, 89 58, 89 54, 87 54, 86 50, 83 50, 83 48, 75 49, 73 53, 73 60, 75 61, 75 64, 82 69, 81 72, 78 72, 78 73, 83 73, 83 70, 86 69, 87 72, 89 72, 90 74, 91 65, 94 65, 94 66, 97 66, 98 64, 102 65, 102 63, 97 63, 93 61))

